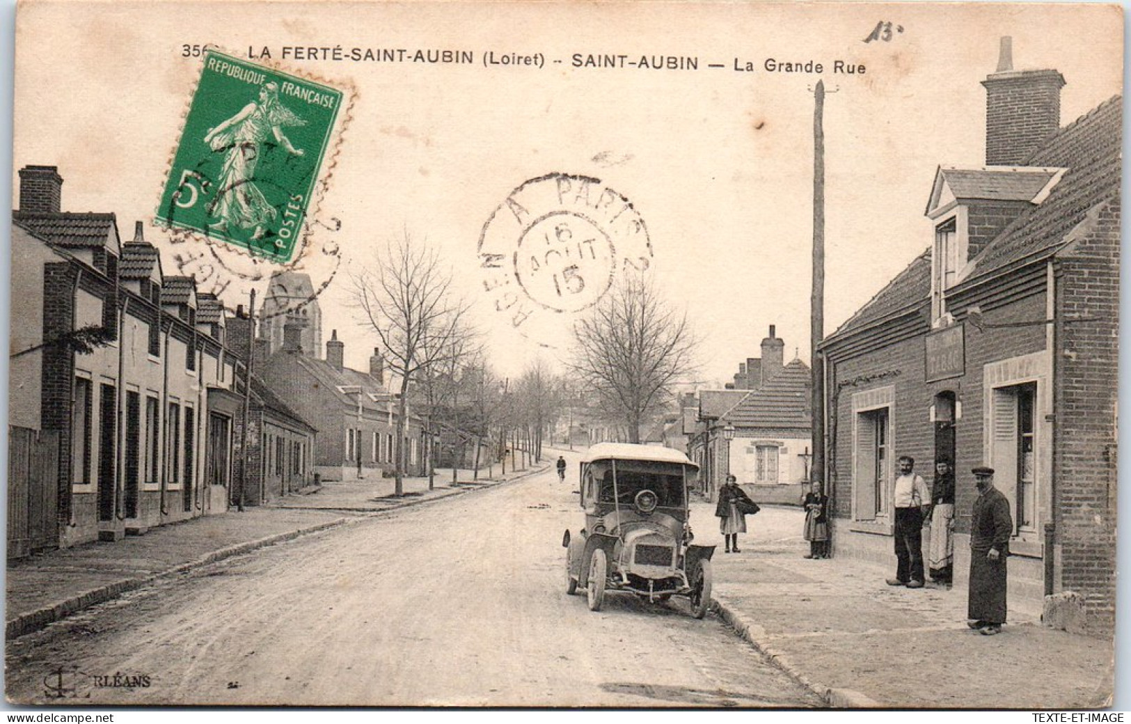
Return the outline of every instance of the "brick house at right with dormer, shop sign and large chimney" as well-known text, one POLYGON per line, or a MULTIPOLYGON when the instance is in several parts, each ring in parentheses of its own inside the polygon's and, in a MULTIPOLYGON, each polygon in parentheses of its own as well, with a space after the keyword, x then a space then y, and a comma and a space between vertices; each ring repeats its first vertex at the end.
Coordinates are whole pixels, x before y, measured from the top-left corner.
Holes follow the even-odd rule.
MULTIPOLYGON (((1074 591, 1114 621, 1121 100, 1059 128, 1063 78, 983 85, 985 166, 940 167, 933 243, 822 344, 838 554, 893 561, 900 455, 957 468, 958 575, 969 471, 1010 500, 1010 595, 1074 591)), ((893 564, 893 562, 892 562, 893 564)))

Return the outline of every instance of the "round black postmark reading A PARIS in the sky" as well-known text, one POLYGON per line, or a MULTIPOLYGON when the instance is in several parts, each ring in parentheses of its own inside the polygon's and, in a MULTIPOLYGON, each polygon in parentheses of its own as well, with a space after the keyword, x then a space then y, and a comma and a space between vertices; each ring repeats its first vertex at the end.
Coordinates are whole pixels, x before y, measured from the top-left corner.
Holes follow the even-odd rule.
POLYGON ((511 191, 483 225, 478 258, 497 312, 554 346, 536 324, 596 304, 618 275, 647 272, 651 241, 624 196, 592 176, 551 173, 511 191))

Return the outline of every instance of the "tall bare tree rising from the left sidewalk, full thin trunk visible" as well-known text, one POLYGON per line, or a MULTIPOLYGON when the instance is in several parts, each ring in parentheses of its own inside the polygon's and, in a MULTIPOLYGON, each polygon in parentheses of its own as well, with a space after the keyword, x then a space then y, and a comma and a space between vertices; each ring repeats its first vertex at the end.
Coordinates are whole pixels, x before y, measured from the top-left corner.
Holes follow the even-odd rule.
POLYGON ((451 291, 452 273, 426 242, 407 232, 390 242, 372 267, 351 273, 351 295, 400 380, 397 400, 396 494, 404 494, 407 468, 408 388, 456 354, 457 341, 473 335, 468 304, 451 291))

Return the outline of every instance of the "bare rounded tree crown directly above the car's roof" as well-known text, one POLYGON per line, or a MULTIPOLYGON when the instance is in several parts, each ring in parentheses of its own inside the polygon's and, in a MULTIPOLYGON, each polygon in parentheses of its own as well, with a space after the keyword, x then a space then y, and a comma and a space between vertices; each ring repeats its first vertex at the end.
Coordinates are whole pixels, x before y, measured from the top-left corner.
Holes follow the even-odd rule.
POLYGON ((694 369, 694 337, 687 312, 671 307, 655 285, 622 277, 573 327, 570 367, 601 398, 610 417, 640 442, 640 425, 694 369))

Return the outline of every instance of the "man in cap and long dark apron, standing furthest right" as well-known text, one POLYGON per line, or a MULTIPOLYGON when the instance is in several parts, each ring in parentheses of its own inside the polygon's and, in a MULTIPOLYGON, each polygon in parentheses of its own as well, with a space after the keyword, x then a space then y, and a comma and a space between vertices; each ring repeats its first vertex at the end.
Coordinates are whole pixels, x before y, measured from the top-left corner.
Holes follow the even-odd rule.
POLYGON ((970 592, 968 626, 984 636, 1001 634, 1005 622, 1005 559, 1013 518, 1009 500, 993 486, 993 468, 975 467, 978 499, 970 518, 970 592))

